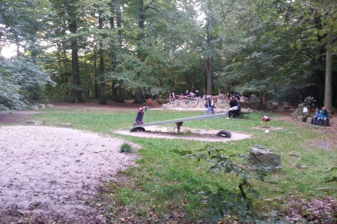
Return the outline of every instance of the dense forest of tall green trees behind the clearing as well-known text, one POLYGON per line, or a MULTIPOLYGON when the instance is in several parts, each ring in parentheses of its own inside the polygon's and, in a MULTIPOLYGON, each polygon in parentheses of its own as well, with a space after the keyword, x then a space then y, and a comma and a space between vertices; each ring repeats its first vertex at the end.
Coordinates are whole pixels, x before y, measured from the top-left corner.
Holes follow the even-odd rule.
POLYGON ((0 109, 236 91, 337 105, 335 0, 1 0, 0 109), (14 52, 14 56, 9 57, 14 52))

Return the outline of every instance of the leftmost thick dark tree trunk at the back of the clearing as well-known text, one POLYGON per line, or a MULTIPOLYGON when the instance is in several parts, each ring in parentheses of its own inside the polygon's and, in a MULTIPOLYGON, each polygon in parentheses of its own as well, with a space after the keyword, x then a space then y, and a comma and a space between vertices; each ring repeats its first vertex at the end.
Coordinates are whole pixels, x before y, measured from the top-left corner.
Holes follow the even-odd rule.
MULTIPOLYGON (((69 31, 74 34, 77 32, 77 22, 74 20, 69 21, 69 31)), ((79 49, 77 45, 77 39, 73 38, 71 41, 71 58, 73 65, 73 78, 74 78, 74 86, 78 88, 81 85, 80 80, 80 66, 79 66, 79 49)), ((81 91, 77 89, 73 89, 74 94, 74 102, 79 103, 82 102, 81 91)))

